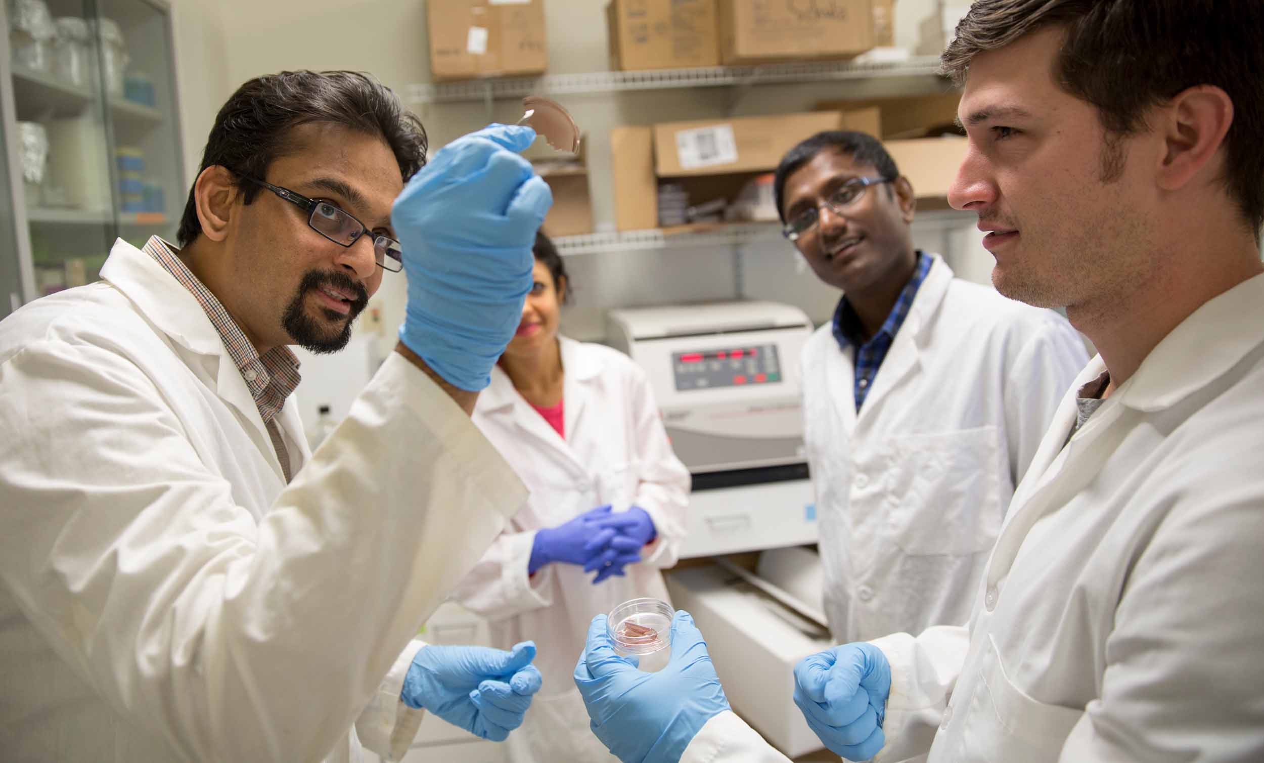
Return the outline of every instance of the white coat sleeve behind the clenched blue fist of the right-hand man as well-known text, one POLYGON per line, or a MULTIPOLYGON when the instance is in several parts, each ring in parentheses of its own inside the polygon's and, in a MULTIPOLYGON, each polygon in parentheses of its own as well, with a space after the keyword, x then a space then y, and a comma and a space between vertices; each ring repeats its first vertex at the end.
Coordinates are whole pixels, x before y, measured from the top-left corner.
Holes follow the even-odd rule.
POLYGON ((882 723, 886 744, 873 757, 873 763, 924 755, 930 752, 966 662, 969 629, 934 625, 918 637, 895 633, 870 643, 882 649, 891 666, 891 694, 882 723))

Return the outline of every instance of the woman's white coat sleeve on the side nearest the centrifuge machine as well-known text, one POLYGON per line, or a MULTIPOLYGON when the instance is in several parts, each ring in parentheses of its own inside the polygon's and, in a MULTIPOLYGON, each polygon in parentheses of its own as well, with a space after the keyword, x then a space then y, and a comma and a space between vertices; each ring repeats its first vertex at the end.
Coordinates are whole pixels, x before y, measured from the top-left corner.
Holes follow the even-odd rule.
POLYGON ((650 380, 636 366, 629 368, 629 374, 632 436, 640 471, 636 505, 650 514, 657 533, 653 542, 641 551, 641 563, 665 570, 676 563, 685 537, 690 476, 671 450, 650 380))

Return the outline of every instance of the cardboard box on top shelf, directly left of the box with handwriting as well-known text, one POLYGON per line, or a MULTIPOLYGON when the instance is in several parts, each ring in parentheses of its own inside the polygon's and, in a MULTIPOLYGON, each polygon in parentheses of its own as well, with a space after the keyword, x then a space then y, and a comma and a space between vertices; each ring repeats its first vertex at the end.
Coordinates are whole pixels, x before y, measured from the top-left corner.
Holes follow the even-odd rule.
POLYGON ((662 69, 719 63, 715 0, 612 0, 605 6, 611 68, 662 69))

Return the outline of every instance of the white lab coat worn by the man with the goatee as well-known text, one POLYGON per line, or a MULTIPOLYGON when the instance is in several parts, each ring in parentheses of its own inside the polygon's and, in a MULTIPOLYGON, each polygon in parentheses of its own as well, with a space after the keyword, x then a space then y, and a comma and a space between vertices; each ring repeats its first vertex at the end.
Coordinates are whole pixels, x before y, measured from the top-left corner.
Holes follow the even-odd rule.
POLYGON ((521 483, 392 354, 313 456, 286 403, 287 486, 193 296, 123 241, 101 275, 0 323, 0 757, 402 754, 410 638, 521 483))

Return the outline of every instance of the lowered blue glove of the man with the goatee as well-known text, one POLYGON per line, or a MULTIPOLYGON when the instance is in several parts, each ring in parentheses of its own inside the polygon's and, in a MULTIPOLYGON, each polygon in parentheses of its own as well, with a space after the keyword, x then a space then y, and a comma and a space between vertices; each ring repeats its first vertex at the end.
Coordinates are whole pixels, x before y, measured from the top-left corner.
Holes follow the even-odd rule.
POLYGON ((426 646, 412 658, 399 699, 470 734, 504 742, 540 691, 535 656, 535 642, 514 644, 511 652, 426 646))

